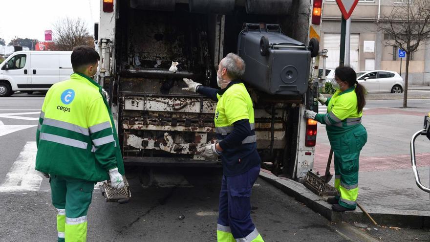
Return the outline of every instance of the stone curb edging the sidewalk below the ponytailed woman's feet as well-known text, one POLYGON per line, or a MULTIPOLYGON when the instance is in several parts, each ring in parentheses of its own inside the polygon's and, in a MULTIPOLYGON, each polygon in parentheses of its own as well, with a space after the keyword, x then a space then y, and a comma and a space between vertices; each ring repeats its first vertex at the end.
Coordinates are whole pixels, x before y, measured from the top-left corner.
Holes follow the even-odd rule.
MULTIPOLYGON (((292 179, 278 177, 269 171, 261 169, 260 177, 274 185, 288 196, 305 204, 310 209, 321 214, 333 222, 360 222, 370 223, 366 215, 357 207, 354 211, 344 213, 334 212, 331 205, 323 197, 317 196, 308 190, 303 184, 292 179)), ((430 211, 396 210, 389 208, 366 207, 367 213, 378 225, 397 226, 403 228, 430 228, 430 211)))

